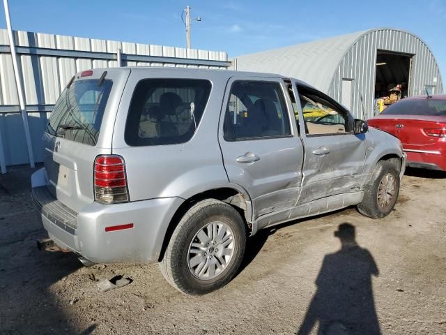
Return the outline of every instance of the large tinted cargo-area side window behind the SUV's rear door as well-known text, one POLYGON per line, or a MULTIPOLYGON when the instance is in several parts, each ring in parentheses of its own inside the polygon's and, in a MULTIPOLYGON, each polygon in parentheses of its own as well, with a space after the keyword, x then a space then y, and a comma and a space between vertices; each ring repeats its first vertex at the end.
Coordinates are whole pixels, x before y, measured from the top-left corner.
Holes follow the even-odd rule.
POLYGON ((200 123, 210 87, 208 80, 141 80, 130 103, 125 142, 131 146, 187 142, 200 123))

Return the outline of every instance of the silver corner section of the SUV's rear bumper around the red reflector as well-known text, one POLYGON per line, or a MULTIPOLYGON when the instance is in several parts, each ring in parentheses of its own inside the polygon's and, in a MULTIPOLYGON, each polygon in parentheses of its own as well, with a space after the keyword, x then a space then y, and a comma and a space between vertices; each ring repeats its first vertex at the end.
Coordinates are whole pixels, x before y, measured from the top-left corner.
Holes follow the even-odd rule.
POLYGON ((80 253, 93 262, 157 262, 171 218, 182 203, 180 198, 93 202, 77 216, 80 253), (133 228, 105 231, 128 223, 133 228))

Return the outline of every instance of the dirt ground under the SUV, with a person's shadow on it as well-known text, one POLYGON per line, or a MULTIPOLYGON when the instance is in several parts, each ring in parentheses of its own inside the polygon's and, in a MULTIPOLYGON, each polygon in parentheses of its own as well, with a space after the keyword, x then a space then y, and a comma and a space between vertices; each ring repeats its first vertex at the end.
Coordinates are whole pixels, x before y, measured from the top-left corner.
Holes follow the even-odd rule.
POLYGON ((446 174, 408 170, 378 221, 351 208, 260 232, 240 274, 204 297, 157 265, 39 252, 30 174, 0 175, 1 334, 446 334, 446 174), (132 283, 98 290, 116 275, 132 283))

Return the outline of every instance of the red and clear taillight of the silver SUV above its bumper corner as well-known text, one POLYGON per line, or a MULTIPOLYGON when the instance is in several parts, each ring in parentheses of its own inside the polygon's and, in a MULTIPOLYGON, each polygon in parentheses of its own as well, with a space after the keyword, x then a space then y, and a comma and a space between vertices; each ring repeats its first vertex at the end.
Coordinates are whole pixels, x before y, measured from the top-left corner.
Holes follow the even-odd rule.
POLYGON ((96 157, 93 179, 95 200, 107 204, 129 201, 125 162, 121 156, 96 157))

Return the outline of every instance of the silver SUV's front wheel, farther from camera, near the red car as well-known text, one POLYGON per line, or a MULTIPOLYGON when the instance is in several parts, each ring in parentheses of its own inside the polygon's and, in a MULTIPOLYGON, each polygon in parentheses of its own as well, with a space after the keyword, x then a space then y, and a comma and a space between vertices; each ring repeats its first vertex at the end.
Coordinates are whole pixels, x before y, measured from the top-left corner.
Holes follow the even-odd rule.
POLYGON ((399 194, 399 172, 388 161, 379 161, 364 187, 364 198, 357 210, 369 218, 383 218, 390 214, 399 194))

